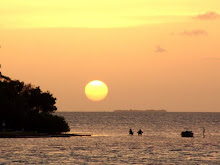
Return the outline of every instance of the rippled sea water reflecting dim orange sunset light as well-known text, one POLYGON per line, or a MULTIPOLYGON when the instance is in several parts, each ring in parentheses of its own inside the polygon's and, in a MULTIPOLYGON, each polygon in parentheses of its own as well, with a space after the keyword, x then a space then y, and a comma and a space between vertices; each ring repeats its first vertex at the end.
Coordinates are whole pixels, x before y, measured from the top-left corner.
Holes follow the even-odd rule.
POLYGON ((220 113, 58 114, 93 136, 0 139, 0 164, 220 164, 220 113), (182 138, 184 128, 195 137, 182 138))

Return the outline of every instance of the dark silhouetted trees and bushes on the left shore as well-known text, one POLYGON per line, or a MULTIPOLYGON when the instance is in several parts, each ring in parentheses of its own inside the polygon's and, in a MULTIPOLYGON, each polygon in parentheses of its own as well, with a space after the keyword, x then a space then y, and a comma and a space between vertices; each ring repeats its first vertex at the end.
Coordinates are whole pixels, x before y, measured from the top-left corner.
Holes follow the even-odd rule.
POLYGON ((54 115, 56 98, 40 87, 0 77, 0 131, 68 132, 68 123, 54 115))

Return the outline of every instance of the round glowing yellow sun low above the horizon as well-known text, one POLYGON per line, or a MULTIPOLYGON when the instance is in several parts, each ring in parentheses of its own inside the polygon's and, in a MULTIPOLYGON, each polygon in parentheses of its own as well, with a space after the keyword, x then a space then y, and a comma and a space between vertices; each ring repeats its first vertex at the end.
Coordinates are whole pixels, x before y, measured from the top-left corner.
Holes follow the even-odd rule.
POLYGON ((107 96, 108 87, 102 81, 93 80, 86 85, 85 94, 92 101, 101 101, 107 96))

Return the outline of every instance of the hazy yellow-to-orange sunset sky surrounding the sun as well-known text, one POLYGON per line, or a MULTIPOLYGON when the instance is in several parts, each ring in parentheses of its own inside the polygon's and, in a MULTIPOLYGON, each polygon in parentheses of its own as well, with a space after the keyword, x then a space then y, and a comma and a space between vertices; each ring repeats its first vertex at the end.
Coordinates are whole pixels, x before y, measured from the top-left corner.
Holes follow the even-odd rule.
POLYGON ((2 73, 59 111, 220 112, 219 0, 0 0, 2 73), (109 95, 88 100, 102 80, 109 95))

